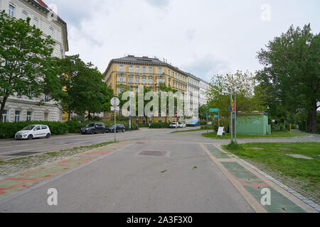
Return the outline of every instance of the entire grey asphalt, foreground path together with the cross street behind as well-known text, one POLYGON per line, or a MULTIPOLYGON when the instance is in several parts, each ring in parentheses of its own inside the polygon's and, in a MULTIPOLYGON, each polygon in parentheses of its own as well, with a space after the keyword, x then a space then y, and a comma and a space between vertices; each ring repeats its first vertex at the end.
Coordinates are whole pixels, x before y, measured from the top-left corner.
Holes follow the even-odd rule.
MULTIPOLYGON (((203 131, 171 131, 175 129, 142 128, 118 133, 117 140, 127 143, 126 147, 0 199, 0 212, 254 212, 201 148, 201 143, 226 144, 229 140, 203 138, 203 131), (142 151, 165 151, 166 156, 139 155, 142 151), (58 190, 58 206, 47 204, 50 188, 58 190)), ((102 143, 113 140, 113 136, 1 140, 0 148, 3 156, 29 150, 45 152, 102 143)), ((319 138, 242 139, 240 143, 320 141, 319 138)))

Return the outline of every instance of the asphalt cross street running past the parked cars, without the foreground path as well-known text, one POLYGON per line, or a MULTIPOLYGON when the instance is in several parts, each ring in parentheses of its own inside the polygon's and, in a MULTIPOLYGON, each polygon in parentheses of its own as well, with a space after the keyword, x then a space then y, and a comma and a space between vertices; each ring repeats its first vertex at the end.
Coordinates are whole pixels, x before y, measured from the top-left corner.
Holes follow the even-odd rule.
MULTIPOLYGON (((199 128, 199 127, 197 127, 199 128)), ((189 130, 194 128, 179 128, 178 130, 189 130)), ((139 131, 117 133, 117 140, 145 140, 145 141, 176 141, 183 143, 216 143, 228 144, 230 140, 212 140, 203 138, 202 133, 206 131, 198 131, 193 133, 171 133, 176 129, 149 129, 141 128, 139 131)), ((93 145, 114 140, 113 133, 96 134, 96 135, 57 135, 49 139, 40 138, 34 140, 0 140, 0 160, 8 160, 11 158, 22 157, 17 153, 45 153, 49 151, 57 151, 68 148, 76 148, 80 146, 93 145)), ((309 135, 301 138, 255 138, 255 139, 238 139, 238 143, 250 142, 320 142, 320 135, 309 135)))

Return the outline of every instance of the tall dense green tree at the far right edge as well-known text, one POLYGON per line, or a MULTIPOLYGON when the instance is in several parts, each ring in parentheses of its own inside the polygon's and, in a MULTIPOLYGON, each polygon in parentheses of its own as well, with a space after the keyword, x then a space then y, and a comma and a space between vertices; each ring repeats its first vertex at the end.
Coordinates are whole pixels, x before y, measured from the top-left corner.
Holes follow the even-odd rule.
POLYGON ((316 110, 320 107, 320 35, 291 26, 257 52, 264 69, 257 72, 269 96, 273 112, 308 115, 308 131, 316 133, 316 110))

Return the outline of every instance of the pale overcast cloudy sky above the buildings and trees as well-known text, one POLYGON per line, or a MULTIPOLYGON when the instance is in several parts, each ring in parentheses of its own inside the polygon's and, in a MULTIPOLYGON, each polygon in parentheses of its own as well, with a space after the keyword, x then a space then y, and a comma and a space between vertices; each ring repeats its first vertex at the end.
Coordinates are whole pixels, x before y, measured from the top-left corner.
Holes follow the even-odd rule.
POLYGON ((148 55, 209 82, 215 74, 259 70, 257 51, 292 24, 320 31, 319 0, 45 2, 68 23, 68 55, 80 54, 101 72, 113 58, 148 55))

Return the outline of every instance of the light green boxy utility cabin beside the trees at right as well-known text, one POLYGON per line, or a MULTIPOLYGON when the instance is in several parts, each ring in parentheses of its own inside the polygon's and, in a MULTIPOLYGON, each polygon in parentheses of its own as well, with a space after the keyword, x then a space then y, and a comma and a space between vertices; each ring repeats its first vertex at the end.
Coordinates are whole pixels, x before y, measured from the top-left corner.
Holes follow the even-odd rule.
POLYGON ((251 135, 271 135, 271 125, 265 112, 237 114, 237 133, 251 135))

